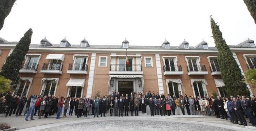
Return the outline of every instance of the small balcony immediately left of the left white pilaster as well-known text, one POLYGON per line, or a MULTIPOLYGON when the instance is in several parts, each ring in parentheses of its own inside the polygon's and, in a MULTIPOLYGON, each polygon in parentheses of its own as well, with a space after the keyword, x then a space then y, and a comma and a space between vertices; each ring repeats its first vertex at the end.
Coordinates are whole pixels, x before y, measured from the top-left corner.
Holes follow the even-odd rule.
POLYGON ((69 64, 67 74, 86 74, 87 75, 88 65, 87 64, 69 64))

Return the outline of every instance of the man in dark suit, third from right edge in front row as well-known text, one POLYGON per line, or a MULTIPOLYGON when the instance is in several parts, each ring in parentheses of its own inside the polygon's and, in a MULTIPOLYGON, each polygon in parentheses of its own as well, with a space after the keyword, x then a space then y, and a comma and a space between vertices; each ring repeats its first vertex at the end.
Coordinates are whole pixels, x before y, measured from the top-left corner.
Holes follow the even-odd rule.
MULTIPOLYGON (((235 99, 235 97, 233 97, 233 99, 235 99)), ((234 101, 234 109, 235 109, 235 113, 237 113, 237 116, 240 121, 239 125, 247 126, 246 119, 244 118, 244 115, 242 114, 242 106, 241 106, 239 97, 237 97, 237 99, 235 99, 235 101, 234 101)))

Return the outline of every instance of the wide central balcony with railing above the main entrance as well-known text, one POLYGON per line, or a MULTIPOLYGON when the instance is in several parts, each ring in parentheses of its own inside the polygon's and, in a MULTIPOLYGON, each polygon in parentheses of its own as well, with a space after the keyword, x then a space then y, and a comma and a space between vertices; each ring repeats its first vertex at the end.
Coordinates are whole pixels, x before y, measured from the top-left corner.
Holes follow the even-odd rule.
POLYGON ((130 75, 142 75, 142 65, 110 65, 109 74, 130 74, 130 75))

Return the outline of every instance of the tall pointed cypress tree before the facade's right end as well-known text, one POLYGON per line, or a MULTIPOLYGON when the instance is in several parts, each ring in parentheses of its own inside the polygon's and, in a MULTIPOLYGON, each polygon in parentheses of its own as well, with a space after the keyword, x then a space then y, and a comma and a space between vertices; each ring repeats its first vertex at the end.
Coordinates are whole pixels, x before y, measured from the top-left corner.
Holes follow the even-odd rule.
POLYGON ((247 90, 246 83, 242 81, 243 76, 241 70, 233 57, 226 41, 222 37, 219 25, 215 23, 211 18, 211 30, 213 33, 214 43, 218 49, 218 64, 220 66, 220 72, 223 82, 226 86, 225 91, 227 96, 230 95, 245 95, 250 96, 250 92, 247 90))

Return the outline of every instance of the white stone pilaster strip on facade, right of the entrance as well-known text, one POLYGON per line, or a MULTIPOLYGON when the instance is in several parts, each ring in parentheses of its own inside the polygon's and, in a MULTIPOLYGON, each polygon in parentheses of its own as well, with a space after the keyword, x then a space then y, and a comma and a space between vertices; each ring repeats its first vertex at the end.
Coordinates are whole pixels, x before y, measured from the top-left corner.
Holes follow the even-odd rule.
POLYGON ((162 94, 162 93, 164 93, 164 86, 163 86, 163 77, 162 77, 160 55, 159 54, 156 54, 156 71, 157 71, 157 81, 158 81, 159 94, 162 94))

